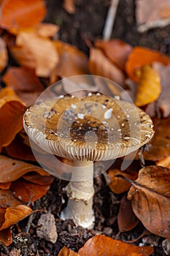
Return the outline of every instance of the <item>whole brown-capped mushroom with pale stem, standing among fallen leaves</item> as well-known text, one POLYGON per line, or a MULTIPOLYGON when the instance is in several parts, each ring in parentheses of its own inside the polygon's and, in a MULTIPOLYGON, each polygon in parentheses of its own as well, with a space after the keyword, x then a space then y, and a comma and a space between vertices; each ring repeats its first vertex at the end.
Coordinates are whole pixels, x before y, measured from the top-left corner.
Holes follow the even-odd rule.
POLYGON ((93 162, 130 154, 154 133, 144 111, 118 97, 99 93, 37 102, 26 111, 23 125, 40 148, 73 160, 72 178, 66 186, 69 200, 61 218, 73 219, 88 229, 95 221, 93 162))

